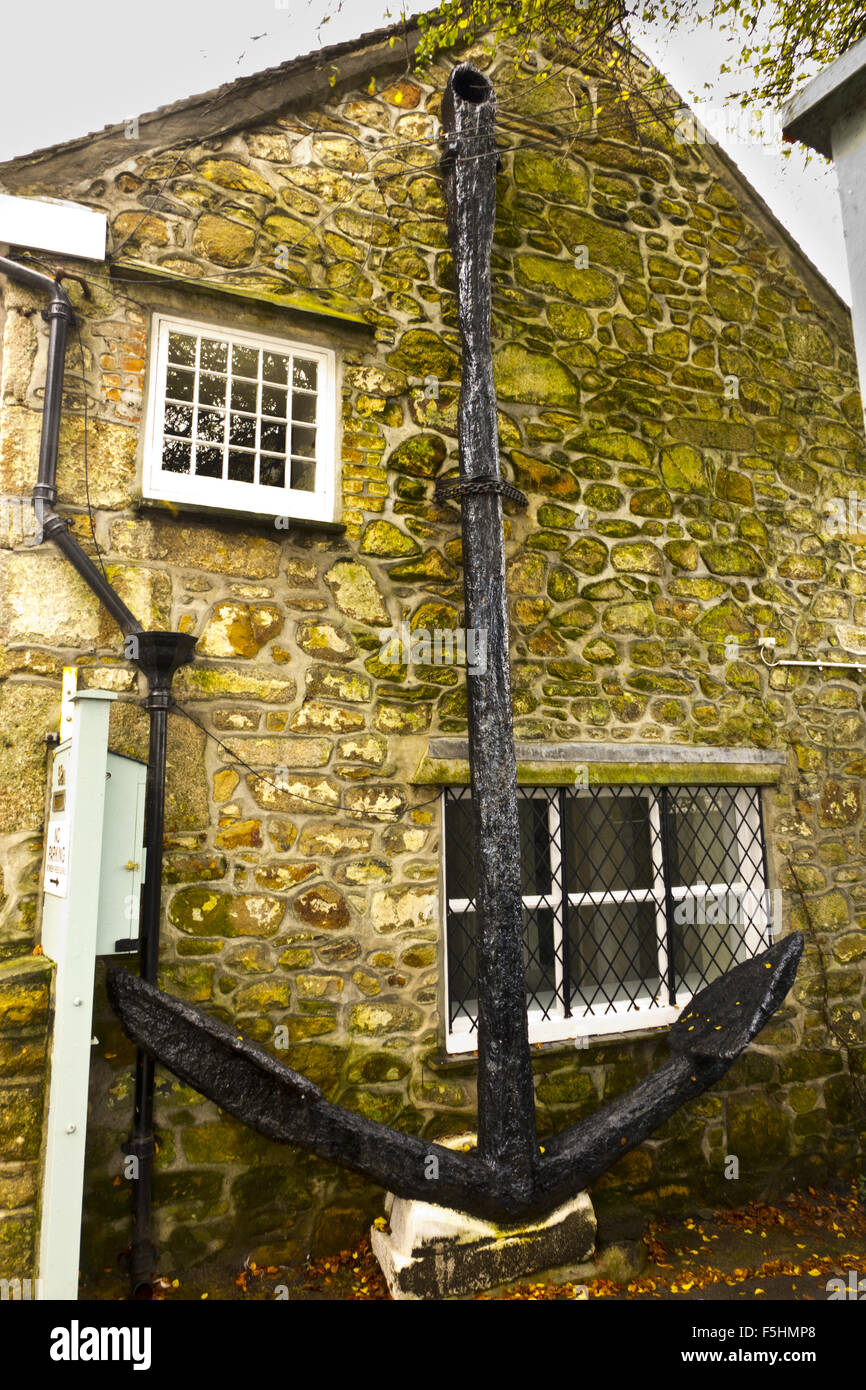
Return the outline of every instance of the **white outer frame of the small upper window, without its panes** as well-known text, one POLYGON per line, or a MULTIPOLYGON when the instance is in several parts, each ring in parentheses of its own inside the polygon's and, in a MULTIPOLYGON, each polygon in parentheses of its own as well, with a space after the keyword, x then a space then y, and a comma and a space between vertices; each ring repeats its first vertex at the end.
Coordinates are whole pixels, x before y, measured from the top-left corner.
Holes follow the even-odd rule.
MULTIPOLYGON (((231 353, 227 368, 231 378, 231 353)), ((197 409, 196 367, 196 400, 197 409)), ((150 391, 145 428, 145 456, 142 493, 146 498, 200 506, 209 510, 252 513, 256 516, 291 517, 306 521, 336 520, 336 354, 328 348, 247 332, 240 328, 177 318, 174 314, 154 314, 150 335, 150 391), (165 413, 165 382, 168 371, 168 335, 189 334, 213 338, 265 352, 296 354, 314 360, 318 366, 316 404, 316 488, 272 488, 261 482, 238 482, 229 478, 204 478, 163 468, 163 421, 165 413)), ((291 392, 291 386, 289 386, 291 392)), ((261 414, 256 414, 256 439, 261 414)), ((228 449, 228 443, 224 446, 228 449)), ((286 470, 289 461, 286 457, 286 470)))

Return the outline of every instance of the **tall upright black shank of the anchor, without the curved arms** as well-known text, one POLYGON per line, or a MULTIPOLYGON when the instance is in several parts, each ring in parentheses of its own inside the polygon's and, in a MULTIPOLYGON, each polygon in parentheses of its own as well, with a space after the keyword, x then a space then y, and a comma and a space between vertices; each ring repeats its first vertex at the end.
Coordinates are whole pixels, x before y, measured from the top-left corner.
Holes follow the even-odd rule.
MULTIPOLYGON (((463 375, 460 478, 499 477, 491 353, 491 247, 496 215, 496 99, 468 64, 442 104, 445 195, 455 257, 463 375)), ((487 670, 467 671, 477 867, 478 1154, 528 1194, 538 1161, 527 1027, 517 769, 512 724, 502 498, 463 493, 466 626, 487 634, 487 670)))

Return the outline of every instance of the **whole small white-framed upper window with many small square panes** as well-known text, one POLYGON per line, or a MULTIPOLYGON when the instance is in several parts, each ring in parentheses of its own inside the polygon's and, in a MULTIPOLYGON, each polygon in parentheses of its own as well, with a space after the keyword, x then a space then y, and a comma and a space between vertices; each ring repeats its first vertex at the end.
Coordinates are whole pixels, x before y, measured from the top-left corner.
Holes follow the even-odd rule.
POLYGON ((328 349, 154 316, 145 496, 332 521, 335 377, 328 349))

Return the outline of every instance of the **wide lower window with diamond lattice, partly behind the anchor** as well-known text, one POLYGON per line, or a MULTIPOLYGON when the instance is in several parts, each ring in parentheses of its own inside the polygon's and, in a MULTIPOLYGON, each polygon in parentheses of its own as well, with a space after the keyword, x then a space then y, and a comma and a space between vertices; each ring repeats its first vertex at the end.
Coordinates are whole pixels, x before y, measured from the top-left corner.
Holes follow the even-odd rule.
MULTIPOLYGON (((521 788, 530 1038, 673 1023, 770 945, 756 787, 521 788)), ((468 788, 445 792, 448 1048, 477 1047, 477 876, 468 788)))

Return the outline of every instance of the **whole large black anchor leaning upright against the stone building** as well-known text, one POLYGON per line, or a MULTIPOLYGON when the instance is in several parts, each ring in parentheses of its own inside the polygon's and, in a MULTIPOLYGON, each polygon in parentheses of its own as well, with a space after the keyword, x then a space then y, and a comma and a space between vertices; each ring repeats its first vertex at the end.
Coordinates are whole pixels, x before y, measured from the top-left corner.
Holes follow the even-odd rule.
MULTIPOLYGON (((128 1036, 183 1081, 271 1140, 363 1173, 399 1197, 487 1220, 544 1215, 601 1176, 687 1101, 713 1086, 783 1002, 803 948, 799 933, 714 980, 670 1030, 670 1058, 539 1150, 530 1055, 520 884, 517 773, 496 393, 491 353, 491 247, 496 211, 496 99, 463 64, 442 106, 449 234, 463 381, 459 407, 467 627, 487 631, 484 674, 467 673, 478 872, 478 1140, 470 1152, 400 1134, 324 1099, 320 1088, 236 1030, 125 970, 108 997, 128 1036), (430 1180, 435 1156, 438 1180, 430 1180)), ((520 496, 520 495, 518 495, 520 496)))

